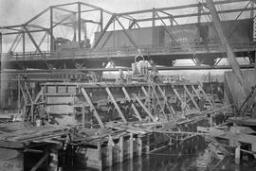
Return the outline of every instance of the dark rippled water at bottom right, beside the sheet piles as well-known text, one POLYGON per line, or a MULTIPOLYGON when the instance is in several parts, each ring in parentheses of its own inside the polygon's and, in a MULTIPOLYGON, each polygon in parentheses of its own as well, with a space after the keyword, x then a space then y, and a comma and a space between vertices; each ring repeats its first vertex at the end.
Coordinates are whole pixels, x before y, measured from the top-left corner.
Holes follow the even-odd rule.
MULTIPOLYGON (((254 160, 255 161, 255 160, 254 160)), ((95 169, 72 169, 74 171, 95 169)), ((150 155, 104 168, 105 171, 256 171, 256 162, 234 163, 234 156, 212 159, 202 137, 167 146, 150 155)))

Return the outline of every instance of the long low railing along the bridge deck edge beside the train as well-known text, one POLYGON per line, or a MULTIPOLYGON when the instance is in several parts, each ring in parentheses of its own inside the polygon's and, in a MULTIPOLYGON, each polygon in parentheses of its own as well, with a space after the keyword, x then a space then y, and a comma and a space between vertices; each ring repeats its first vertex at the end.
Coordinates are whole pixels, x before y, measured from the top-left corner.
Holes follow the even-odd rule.
MULTIPOLYGON (((255 50, 256 43, 253 42, 231 42, 234 51, 255 50)), ((50 53, 43 51, 26 53, 2 54, 5 60, 55 60, 55 59, 96 59, 111 57, 136 56, 137 49, 140 49, 144 56, 150 55, 170 55, 170 54, 190 54, 196 52, 225 52, 224 46, 220 42, 210 41, 207 43, 168 43, 168 44, 148 44, 122 47, 104 47, 104 48, 80 48, 80 49, 62 49, 50 53)))

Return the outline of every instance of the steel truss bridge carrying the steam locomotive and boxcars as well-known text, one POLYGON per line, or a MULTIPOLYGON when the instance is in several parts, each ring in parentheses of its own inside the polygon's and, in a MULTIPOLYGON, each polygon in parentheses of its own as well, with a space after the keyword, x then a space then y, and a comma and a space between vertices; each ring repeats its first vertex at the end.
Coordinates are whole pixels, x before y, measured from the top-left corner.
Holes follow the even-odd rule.
MULTIPOLYGON (((215 1, 213 4, 216 9, 219 6, 229 4, 242 3, 236 9, 219 9, 217 13, 222 18, 223 24, 234 21, 234 27, 239 25, 240 21, 245 19, 242 16, 249 15, 246 19, 252 23, 254 16, 254 0, 224 0, 215 1), (230 14, 232 16, 230 17, 230 14), (229 17, 221 17, 221 16, 229 17)), ((87 16, 87 15, 86 15, 87 16)), ((186 26, 182 20, 194 19, 196 25, 210 24, 212 21, 210 10, 207 3, 199 2, 177 7, 161 8, 161 9, 145 9, 131 12, 113 13, 99 7, 89 5, 83 2, 68 3, 63 5, 51 6, 38 15, 28 20, 25 24, 16 26, 1 26, 1 51, 6 37, 13 38, 7 53, 1 55, 1 68, 22 69, 82 69, 82 68, 101 68, 104 70, 106 63, 113 61, 117 66, 131 66, 134 62, 134 56, 137 55, 137 49, 140 49, 147 60, 154 60, 159 65, 165 65, 166 69, 173 69, 174 60, 192 59, 197 66, 208 64, 210 68, 217 67, 219 61, 226 58, 224 45, 218 39, 208 40, 204 43, 198 41, 177 42, 175 34, 170 30, 170 26, 186 26), (195 9, 196 12, 175 14, 174 10, 184 11, 184 9, 195 9), (54 14, 61 12, 65 14, 64 18, 57 20, 54 14), (94 12, 98 15, 97 19, 86 18, 85 15, 94 12), (144 17, 138 17, 143 14, 144 17), (42 17, 46 17, 48 23, 40 25, 36 21, 42 17), (70 22, 70 17, 75 18, 75 22, 70 22), (181 21, 181 22, 179 22, 181 21), (68 49, 57 49, 56 29, 59 26, 66 26, 73 29, 73 42, 78 46, 68 49), (143 24, 149 24, 152 27, 161 26, 172 43, 154 43, 139 44, 135 37, 131 34, 131 30, 141 29, 143 24), (170 23, 170 24, 169 24, 170 23), (92 24, 98 26, 97 37, 91 44, 91 47, 82 45, 82 35, 84 33, 84 25, 92 24), (112 28, 114 26, 114 28, 112 28), (116 28, 115 28, 116 26, 116 28), (119 26, 119 27, 118 27, 119 26), (121 31, 125 39, 130 45, 107 47, 111 36, 115 32, 121 31), (39 39, 39 34, 43 37, 39 39), (49 50, 43 46, 49 39, 49 50), (17 46, 21 46, 21 51, 16 50, 17 46), (27 50, 28 46, 33 46, 33 50, 27 50)), ((233 32, 236 30, 234 29, 233 32)), ((246 31, 246 30, 245 30, 246 31)), ((85 31, 86 32, 86 31, 85 31)), ((237 57, 248 57, 250 62, 254 62, 256 44, 252 40, 234 41, 229 39, 233 51, 237 57)), ((201 66, 200 66, 201 67, 201 66)), ((200 67, 198 67, 200 69, 200 67)), ((188 67, 189 69, 190 67, 188 67)), ((221 68, 221 67, 220 67, 221 68)))

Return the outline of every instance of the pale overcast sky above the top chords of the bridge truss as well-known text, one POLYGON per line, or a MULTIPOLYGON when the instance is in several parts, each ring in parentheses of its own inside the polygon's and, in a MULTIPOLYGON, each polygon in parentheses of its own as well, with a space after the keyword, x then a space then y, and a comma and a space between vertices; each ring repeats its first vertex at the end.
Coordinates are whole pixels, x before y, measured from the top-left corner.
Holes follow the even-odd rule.
MULTIPOLYGON (((191 4, 198 0, 81 0, 115 13, 137 9, 191 4)), ((0 26, 25 23, 49 6, 76 2, 72 0, 0 0, 0 26)))

